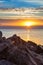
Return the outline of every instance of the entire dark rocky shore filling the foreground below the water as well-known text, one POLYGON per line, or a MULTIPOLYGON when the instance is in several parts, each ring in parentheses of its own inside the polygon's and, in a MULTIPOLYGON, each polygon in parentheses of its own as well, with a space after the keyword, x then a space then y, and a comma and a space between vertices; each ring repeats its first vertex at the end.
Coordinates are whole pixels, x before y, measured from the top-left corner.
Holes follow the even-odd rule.
POLYGON ((43 46, 16 34, 3 37, 0 31, 0 65, 43 65, 43 46))

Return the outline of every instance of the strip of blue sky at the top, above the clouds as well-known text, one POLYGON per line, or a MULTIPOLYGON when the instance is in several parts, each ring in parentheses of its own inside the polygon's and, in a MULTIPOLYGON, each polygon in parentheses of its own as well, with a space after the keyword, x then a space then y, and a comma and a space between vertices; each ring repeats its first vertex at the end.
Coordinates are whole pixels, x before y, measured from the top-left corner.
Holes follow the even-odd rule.
POLYGON ((0 0, 0 8, 43 7, 43 0, 0 0))

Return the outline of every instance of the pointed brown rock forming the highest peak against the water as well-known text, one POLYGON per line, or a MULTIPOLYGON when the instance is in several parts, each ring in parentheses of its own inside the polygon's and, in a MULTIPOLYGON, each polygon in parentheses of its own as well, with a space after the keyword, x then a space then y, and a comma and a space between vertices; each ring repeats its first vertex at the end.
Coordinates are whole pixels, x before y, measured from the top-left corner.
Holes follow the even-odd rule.
POLYGON ((22 44, 26 43, 26 41, 22 40, 16 34, 13 35, 12 37, 8 38, 8 39, 10 39, 12 42, 14 42, 14 45, 16 45, 16 46, 19 46, 19 45, 22 45, 22 44))

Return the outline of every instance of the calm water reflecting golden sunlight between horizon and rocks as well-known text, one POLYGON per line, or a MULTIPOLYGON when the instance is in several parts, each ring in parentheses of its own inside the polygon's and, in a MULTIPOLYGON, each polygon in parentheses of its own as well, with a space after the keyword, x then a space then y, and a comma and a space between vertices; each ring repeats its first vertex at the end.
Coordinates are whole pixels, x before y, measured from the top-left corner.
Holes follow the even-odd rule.
POLYGON ((0 29, 6 38, 17 34, 25 41, 33 41, 43 45, 43 29, 0 29))

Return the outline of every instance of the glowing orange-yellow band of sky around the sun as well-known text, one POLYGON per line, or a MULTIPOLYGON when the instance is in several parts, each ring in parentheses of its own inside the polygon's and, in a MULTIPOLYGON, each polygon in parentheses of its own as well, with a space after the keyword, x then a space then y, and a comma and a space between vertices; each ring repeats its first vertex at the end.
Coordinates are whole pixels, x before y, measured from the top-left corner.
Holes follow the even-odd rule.
POLYGON ((2 20, 0 26, 43 26, 42 19, 14 19, 14 20, 2 20))

